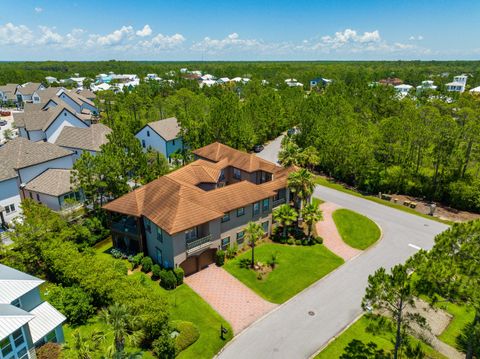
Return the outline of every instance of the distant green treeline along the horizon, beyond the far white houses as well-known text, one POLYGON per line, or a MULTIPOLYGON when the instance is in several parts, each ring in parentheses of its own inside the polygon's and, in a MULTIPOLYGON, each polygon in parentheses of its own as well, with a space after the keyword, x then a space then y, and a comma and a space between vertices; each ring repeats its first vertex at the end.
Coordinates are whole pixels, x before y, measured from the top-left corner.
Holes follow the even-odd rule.
POLYGON ((433 79, 437 85, 452 81, 454 75, 469 75, 468 85, 480 85, 480 61, 296 61, 296 62, 149 62, 149 61, 95 61, 95 62, 0 62, 0 84, 44 81, 45 76, 58 79, 73 76, 95 77, 99 73, 134 73, 141 77, 157 73, 160 77, 180 68, 201 70, 218 77, 248 76, 254 79, 281 83, 296 78, 306 86, 318 76, 333 80, 377 81, 398 77, 405 83, 419 85, 433 79), (447 75, 448 73, 448 75, 447 75), (443 76, 442 76, 443 74, 443 76))

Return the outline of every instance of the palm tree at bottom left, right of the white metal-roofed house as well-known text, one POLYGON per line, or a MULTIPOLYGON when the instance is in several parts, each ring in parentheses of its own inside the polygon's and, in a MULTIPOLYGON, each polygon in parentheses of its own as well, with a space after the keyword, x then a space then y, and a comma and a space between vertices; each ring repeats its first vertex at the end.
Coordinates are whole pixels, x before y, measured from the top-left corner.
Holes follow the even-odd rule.
POLYGON ((113 357, 121 358, 124 354, 125 343, 132 346, 140 343, 143 333, 139 329, 139 319, 132 315, 124 304, 113 304, 100 313, 100 320, 110 326, 113 334, 113 357))

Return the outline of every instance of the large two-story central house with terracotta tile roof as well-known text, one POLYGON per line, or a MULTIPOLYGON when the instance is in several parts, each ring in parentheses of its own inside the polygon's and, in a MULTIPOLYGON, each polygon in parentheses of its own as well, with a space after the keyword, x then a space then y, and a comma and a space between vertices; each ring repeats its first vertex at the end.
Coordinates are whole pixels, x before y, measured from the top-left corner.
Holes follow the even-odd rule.
POLYGON ((187 275, 213 263, 217 250, 244 246, 250 221, 270 234, 293 171, 220 143, 193 153, 196 161, 104 206, 117 248, 187 275))

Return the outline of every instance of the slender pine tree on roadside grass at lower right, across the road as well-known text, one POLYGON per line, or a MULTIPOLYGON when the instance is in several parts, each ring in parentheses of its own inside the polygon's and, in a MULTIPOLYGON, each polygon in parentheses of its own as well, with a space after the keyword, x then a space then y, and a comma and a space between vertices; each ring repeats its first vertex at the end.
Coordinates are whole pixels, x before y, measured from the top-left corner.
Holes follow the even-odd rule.
POLYGON ((365 311, 377 309, 388 312, 395 321, 395 348, 394 359, 403 345, 406 331, 415 323, 421 328, 426 328, 426 320, 418 313, 411 313, 408 309, 415 307, 415 292, 412 277, 409 273, 408 263, 396 265, 391 273, 385 268, 378 269, 368 277, 368 287, 362 300, 365 311))

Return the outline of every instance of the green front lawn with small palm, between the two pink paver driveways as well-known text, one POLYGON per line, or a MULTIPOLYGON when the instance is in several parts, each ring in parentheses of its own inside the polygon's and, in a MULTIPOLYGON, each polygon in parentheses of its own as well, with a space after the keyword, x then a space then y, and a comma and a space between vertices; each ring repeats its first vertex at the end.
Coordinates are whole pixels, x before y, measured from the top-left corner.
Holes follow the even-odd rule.
POLYGON ((239 267, 241 258, 251 258, 251 250, 225 263, 224 268, 260 296, 283 303, 343 263, 323 245, 290 246, 266 243, 255 248, 255 261, 266 263, 277 252, 278 264, 264 279, 251 269, 239 267))

